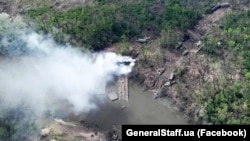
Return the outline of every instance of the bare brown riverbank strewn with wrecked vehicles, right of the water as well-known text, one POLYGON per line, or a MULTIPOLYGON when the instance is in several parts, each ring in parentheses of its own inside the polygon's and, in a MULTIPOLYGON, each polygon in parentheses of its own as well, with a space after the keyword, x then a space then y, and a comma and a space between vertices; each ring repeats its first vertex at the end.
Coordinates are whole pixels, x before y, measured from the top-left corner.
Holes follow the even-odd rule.
MULTIPOLYGON (((200 51, 203 38, 211 32, 220 32, 220 21, 232 12, 232 7, 221 8, 204 15, 193 29, 186 31, 185 40, 174 49, 161 49, 159 39, 146 45, 133 44, 131 50, 148 46, 148 53, 139 53, 137 65, 130 79, 142 85, 146 91, 158 91, 158 98, 170 101, 173 109, 182 113, 190 124, 207 124, 204 119, 204 85, 214 80, 214 72, 221 71, 221 62, 200 51), (174 74, 173 80, 170 80, 174 74)), ((221 31, 222 32, 222 31, 221 31)))

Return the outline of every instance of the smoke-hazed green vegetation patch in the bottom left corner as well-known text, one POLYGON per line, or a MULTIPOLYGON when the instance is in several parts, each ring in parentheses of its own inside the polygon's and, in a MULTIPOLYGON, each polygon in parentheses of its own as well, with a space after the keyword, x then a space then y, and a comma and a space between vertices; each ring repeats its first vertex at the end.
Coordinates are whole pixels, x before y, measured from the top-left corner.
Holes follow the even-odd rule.
POLYGON ((37 132, 35 116, 29 108, 23 105, 1 108, 0 140, 27 140, 37 132))

